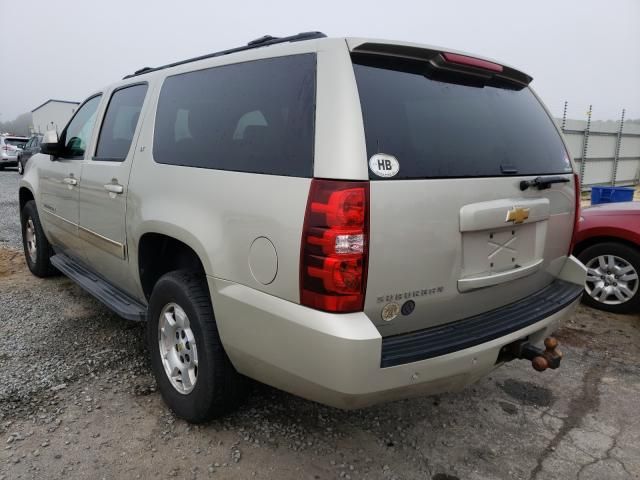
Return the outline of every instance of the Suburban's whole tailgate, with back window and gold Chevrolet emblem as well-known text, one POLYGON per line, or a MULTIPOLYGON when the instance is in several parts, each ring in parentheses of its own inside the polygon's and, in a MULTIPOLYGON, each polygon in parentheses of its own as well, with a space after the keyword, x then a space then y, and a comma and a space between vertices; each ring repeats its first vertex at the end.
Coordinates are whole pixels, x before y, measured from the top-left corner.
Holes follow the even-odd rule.
POLYGON ((460 320, 549 285, 570 248, 574 176, 528 77, 371 52, 353 62, 375 155, 365 312, 381 333, 460 320), (560 183, 521 190, 539 176, 560 183))

